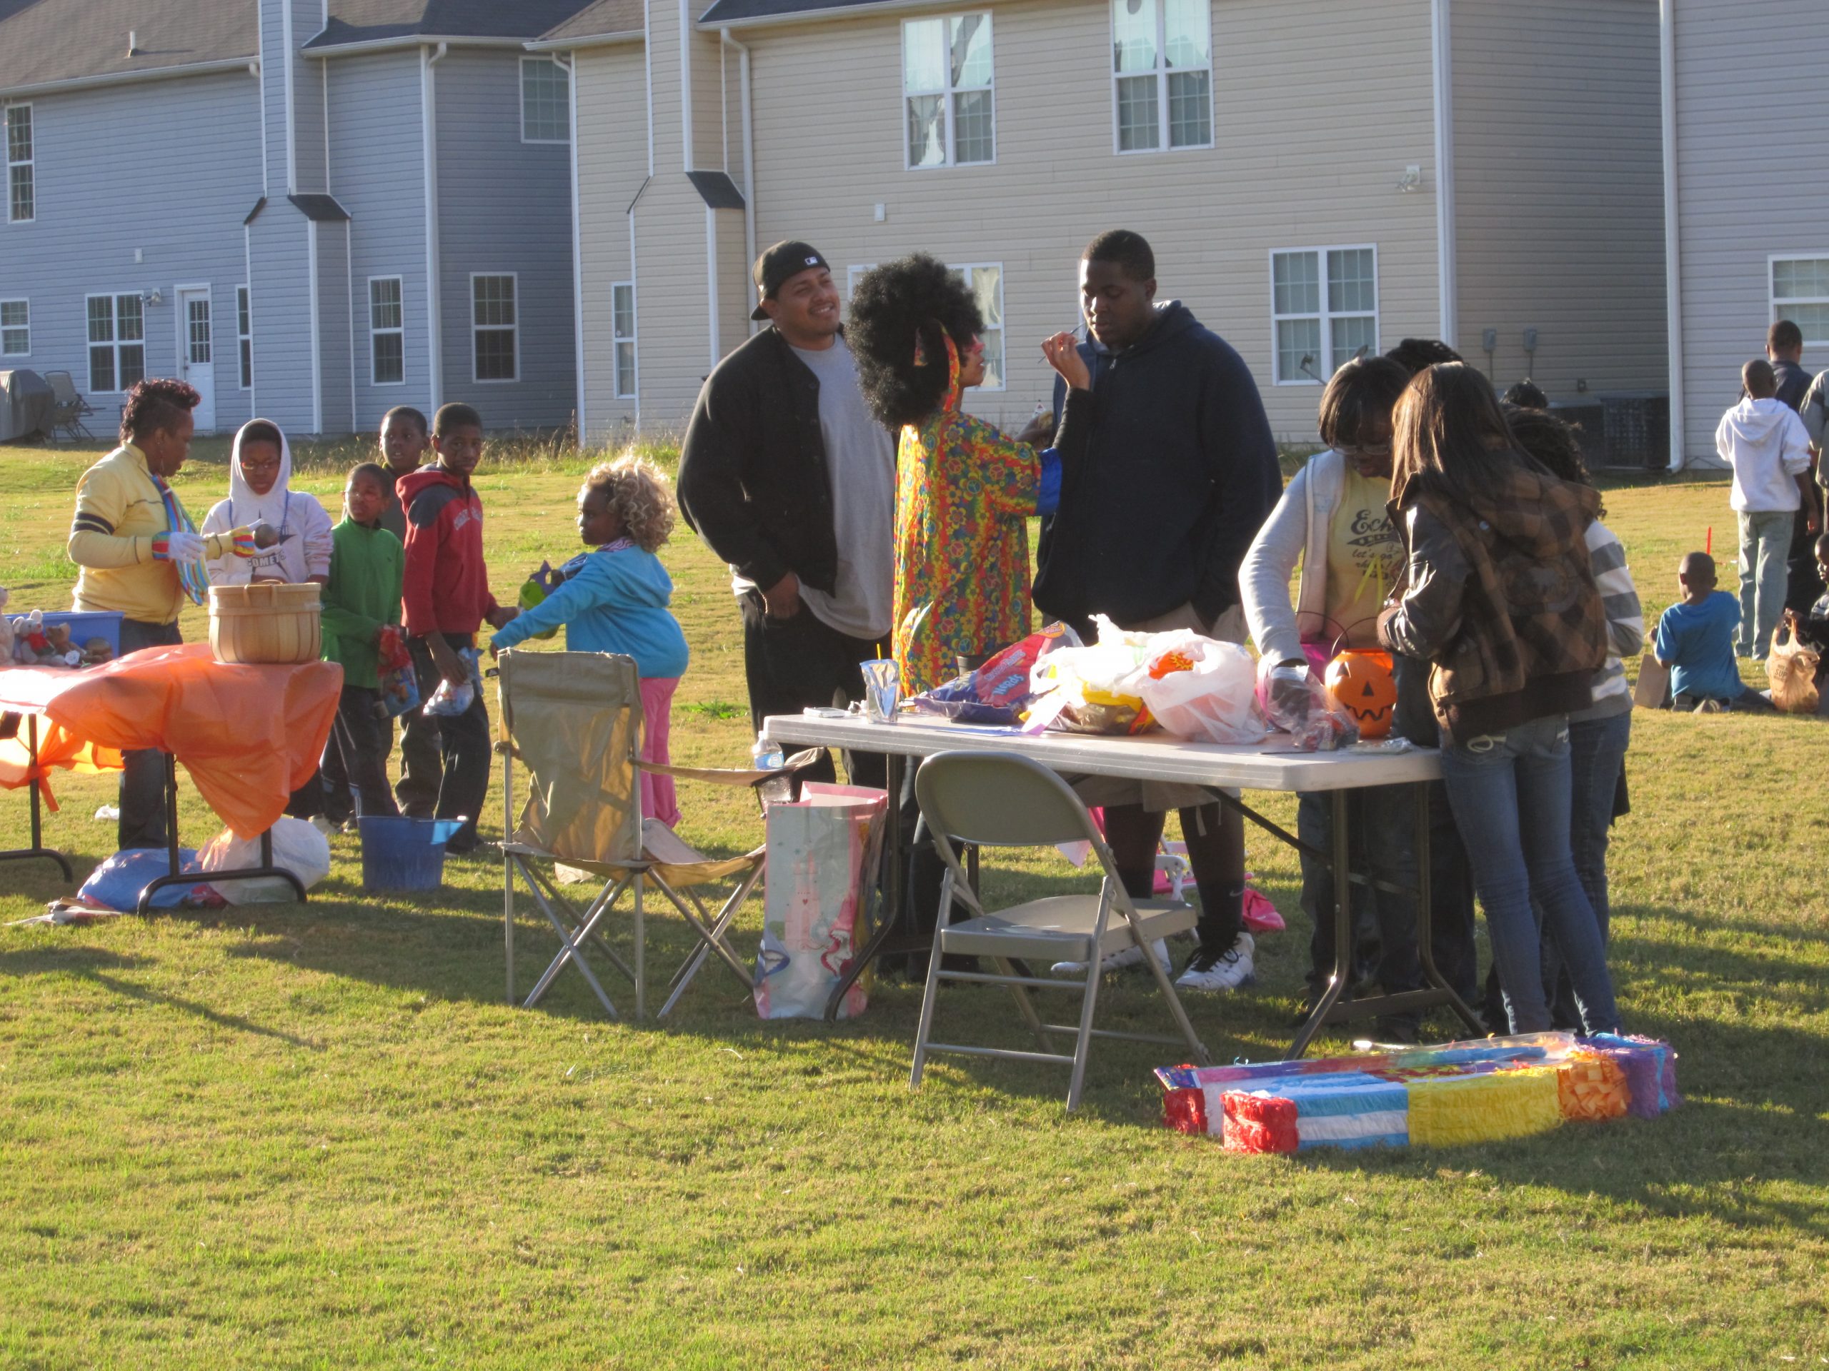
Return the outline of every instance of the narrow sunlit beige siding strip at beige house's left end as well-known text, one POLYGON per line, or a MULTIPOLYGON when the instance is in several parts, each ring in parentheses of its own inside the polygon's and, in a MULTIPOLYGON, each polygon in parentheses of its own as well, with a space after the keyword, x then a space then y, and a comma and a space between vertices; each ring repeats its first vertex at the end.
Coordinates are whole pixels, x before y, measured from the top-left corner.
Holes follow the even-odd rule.
MULTIPOLYGON (((629 265, 629 201, 647 175, 647 75, 642 46, 576 53, 578 218, 583 302, 587 446, 633 431, 635 400, 616 399, 616 347, 609 289, 635 278, 629 265)), ((642 300, 638 292, 636 309, 642 300)), ((640 344, 636 329, 636 344, 640 344)), ((636 349, 640 351, 640 347, 636 349)), ((642 375, 646 358, 638 356, 642 375)))

